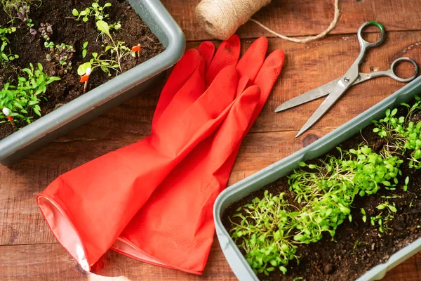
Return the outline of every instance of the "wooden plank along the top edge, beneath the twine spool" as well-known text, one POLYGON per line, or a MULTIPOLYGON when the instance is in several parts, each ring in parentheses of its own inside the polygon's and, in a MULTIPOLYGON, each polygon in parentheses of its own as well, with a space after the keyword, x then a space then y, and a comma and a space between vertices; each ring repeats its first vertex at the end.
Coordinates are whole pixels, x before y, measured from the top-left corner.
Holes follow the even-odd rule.
MULTIPOLYGON (((199 0, 162 0, 186 34, 188 41, 212 39, 199 27, 195 9, 199 0)), ((333 19, 333 0, 273 0, 253 18, 287 36, 319 34, 333 19)), ((420 30, 421 6, 406 0, 342 0, 342 15, 332 34, 353 34, 368 20, 377 20, 389 31, 420 30)), ((241 38, 273 37, 254 22, 239 28, 241 38)))

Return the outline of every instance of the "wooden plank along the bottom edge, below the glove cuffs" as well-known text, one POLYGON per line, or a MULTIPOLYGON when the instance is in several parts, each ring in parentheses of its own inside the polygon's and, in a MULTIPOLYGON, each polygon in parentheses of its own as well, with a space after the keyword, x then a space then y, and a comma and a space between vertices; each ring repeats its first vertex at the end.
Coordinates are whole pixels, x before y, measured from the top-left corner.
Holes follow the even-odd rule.
MULTIPOLYGON (((418 281, 421 253, 391 270, 383 281, 418 281)), ((0 280, 236 280, 215 240, 203 275, 152 266, 108 251, 93 273, 81 270, 60 244, 0 247, 0 280)))

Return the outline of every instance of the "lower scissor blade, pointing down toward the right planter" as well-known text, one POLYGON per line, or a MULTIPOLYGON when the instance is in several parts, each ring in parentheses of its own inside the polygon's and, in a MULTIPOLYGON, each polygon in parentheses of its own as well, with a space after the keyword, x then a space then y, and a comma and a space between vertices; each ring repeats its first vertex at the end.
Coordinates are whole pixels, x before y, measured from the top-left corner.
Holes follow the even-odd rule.
MULTIPOLYGON (((350 86, 350 85, 349 85, 350 86)), ((300 131, 298 132, 297 136, 295 138, 298 138, 302 135, 305 131, 310 129, 319 119, 332 107, 333 104, 336 103, 336 101, 342 96, 345 91, 349 88, 349 86, 345 85, 342 80, 336 84, 335 88, 332 90, 330 95, 323 100, 323 103, 317 108, 317 110, 313 113, 312 117, 310 117, 307 122, 302 126, 300 131)))

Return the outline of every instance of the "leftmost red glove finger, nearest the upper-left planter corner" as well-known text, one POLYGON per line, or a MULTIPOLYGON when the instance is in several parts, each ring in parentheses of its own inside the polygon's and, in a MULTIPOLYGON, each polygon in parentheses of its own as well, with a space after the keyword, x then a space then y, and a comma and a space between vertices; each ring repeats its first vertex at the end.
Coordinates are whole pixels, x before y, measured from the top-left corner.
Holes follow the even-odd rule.
POLYGON ((158 104, 154 112, 154 119, 152 124, 156 122, 156 119, 161 117, 163 110, 166 109, 171 100, 173 100, 175 93, 177 93, 186 81, 192 76, 200 65, 200 54, 195 49, 189 49, 182 56, 180 61, 175 65, 171 72, 165 86, 159 96, 158 104))

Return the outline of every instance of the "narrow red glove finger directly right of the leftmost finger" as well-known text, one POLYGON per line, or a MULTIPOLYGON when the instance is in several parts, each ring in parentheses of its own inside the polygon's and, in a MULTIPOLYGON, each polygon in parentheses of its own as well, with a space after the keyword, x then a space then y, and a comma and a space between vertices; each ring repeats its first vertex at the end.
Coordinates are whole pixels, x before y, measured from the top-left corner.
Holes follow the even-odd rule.
POLYGON ((154 126, 159 123, 159 120, 164 116, 174 118, 180 115, 189 108, 205 91, 205 61, 199 55, 199 67, 193 72, 193 74, 187 79, 181 89, 175 93, 172 100, 165 108, 156 108, 161 110, 159 116, 154 115, 152 120, 152 130, 155 131, 154 126), (165 112, 165 114, 164 114, 165 112))

